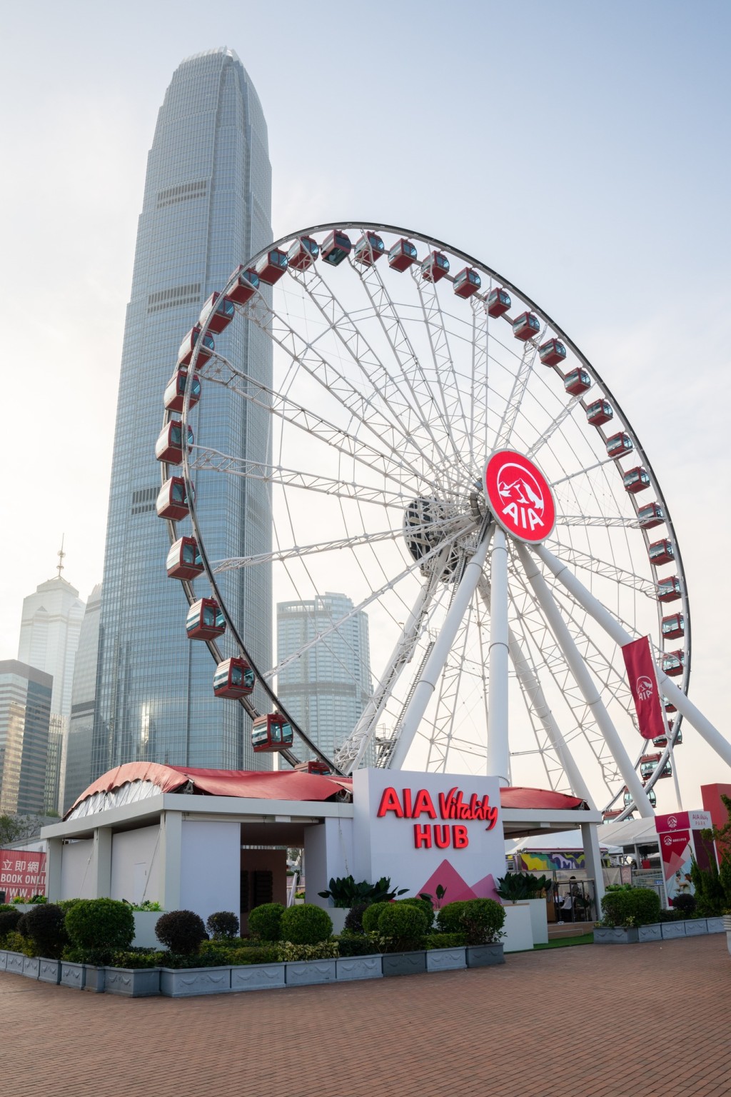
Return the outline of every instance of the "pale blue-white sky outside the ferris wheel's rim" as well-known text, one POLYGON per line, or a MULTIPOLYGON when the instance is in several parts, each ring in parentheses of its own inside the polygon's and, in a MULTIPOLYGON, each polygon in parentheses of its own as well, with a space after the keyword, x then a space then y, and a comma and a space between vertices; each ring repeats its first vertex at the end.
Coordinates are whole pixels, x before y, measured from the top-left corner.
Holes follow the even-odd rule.
MULTIPOLYGON (((7 4, 0 658, 61 533, 81 597, 102 578, 147 151, 176 65, 228 45, 269 123, 275 236, 362 218, 443 239, 598 369, 662 484, 690 695, 726 733, 730 31, 728 3, 675 0, 7 4)), ((690 728, 682 749, 700 806, 731 771, 690 728)))

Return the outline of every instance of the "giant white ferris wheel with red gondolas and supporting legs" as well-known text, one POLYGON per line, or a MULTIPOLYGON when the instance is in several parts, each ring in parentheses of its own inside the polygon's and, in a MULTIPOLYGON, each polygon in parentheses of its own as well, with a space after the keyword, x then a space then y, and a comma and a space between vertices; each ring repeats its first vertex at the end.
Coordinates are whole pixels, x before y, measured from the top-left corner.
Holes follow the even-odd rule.
POLYGON ((652 813, 684 715, 731 761, 686 695, 685 574, 649 459, 566 332, 489 267, 385 225, 287 236, 206 303, 164 405, 168 574, 183 584, 189 636, 214 655, 216 692, 253 719, 254 749, 295 764, 301 739, 343 774, 364 764, 487 770, 572 791, 607 817, 652 813), (271 342, 271 381, 227 357, 226 329, 244 319, 271 342), (198 412, 214 386, 231 415, 243 406, 265 423, 259 452, 206 444, 198 412), (271 551, 210 557, 195 500, 226 476, 264 486, 271 551), (336 589, 353 609, 324 625, 319 615, 297 651, 256 666, 221 577, 263 567, 276 601, 336 589), (319 651, 346 686, 351 660, 338 653, 359 611, 375 686, 328 758, 277 681, 319 651), (216 644, 225 630, 239 649, 228 659, 216 644), (652 750, 620 651, 646 635, 669 714, 652 750), (255 682, 273 711, 254 708, 255 682))

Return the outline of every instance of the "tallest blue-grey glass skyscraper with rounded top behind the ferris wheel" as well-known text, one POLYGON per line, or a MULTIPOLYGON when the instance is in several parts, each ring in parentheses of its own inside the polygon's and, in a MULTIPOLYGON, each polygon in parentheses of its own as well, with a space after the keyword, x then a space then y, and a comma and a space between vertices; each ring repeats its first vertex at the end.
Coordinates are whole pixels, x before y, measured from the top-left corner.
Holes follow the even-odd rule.
MULTIPOLYGON (((100 676, 91 736, 69 746, 66 802, 105 768, 135 759, 203 767, 251 767, 249 720, 213 695, 204 644, 185 635, 185 599, 168 579, 165 523, 155 512, 153 457, 162 392, 176 350, 212 291, 272 238, 266 124, 232 49, 209 49, 173 73, 148 158, 127 307, 114 438, 100 617, 100 676), (71 778, 71 774, 73 777, 71 778)), ((264 384, 272 352, 258 328, 237 320, 216 347, 264 384)), ((204 385, 196 438, 226 453, 266 461, 267 416, 219 386, 204 385)), ((213 559, 265 553, 271 511, 265 485, 221 475, 197 493, 213 559)), ((271 574, 228 573, 222 587, 252 655, 271 666, 271 574)), ((207 584, 197 580, 201 595, 207 584)), ((222 644, 226 654, 232 654, 222 644)), ((79 702, 80 703, 80 702, 79 702)), ((264 701, 260 699, 263 705, 264 701)), ((258 764, 269 765, 261 761, 258 764)))

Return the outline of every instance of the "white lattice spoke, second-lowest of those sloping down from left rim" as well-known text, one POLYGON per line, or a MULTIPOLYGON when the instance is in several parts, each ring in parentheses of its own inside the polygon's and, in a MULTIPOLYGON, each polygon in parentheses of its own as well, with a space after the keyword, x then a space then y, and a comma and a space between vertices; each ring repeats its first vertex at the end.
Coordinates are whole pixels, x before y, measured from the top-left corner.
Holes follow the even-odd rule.
POLYGON ((237 393, 238 396, 254 407, 261 408, 272 416, 276 416, 282 422, 297 428, 311 438, 316 438, 329 449, 342 453, 344 456, 358 462, 358 464, 362 464, 366 468, 374 470, 395 483, 401 484, 404 471, 409 470, 416 477, 418 482, 435 491, 437 490, 436 482, 426 477, 416 466, 410 465, 404 459, 401 448, 384 445, 378 449, 369 442, 364 441, 363 438, 357 438, 342 427, 324 419, 321 415, 317 415, 302 404, 296 403, 288 396, 275 392, 273 388, 269 388, 261 381, 238 370, 220 355, 212 357, 204 363, 199 373, 214 384, 224 385, 229 392, 237 393), (212 375, 210 372, 210 363, 214 362, 216 363, 216 375, 212 375), (228 367, 226 374, 222 374, 220 370, 221 364, 228 367), (235 384, 233 377, 240 378, 243 385, 235 384), (258 391, 263 398, 258 398, 253 394, 254 391, 258 391), (385 450, 386 452, 384 452, 385 450))

